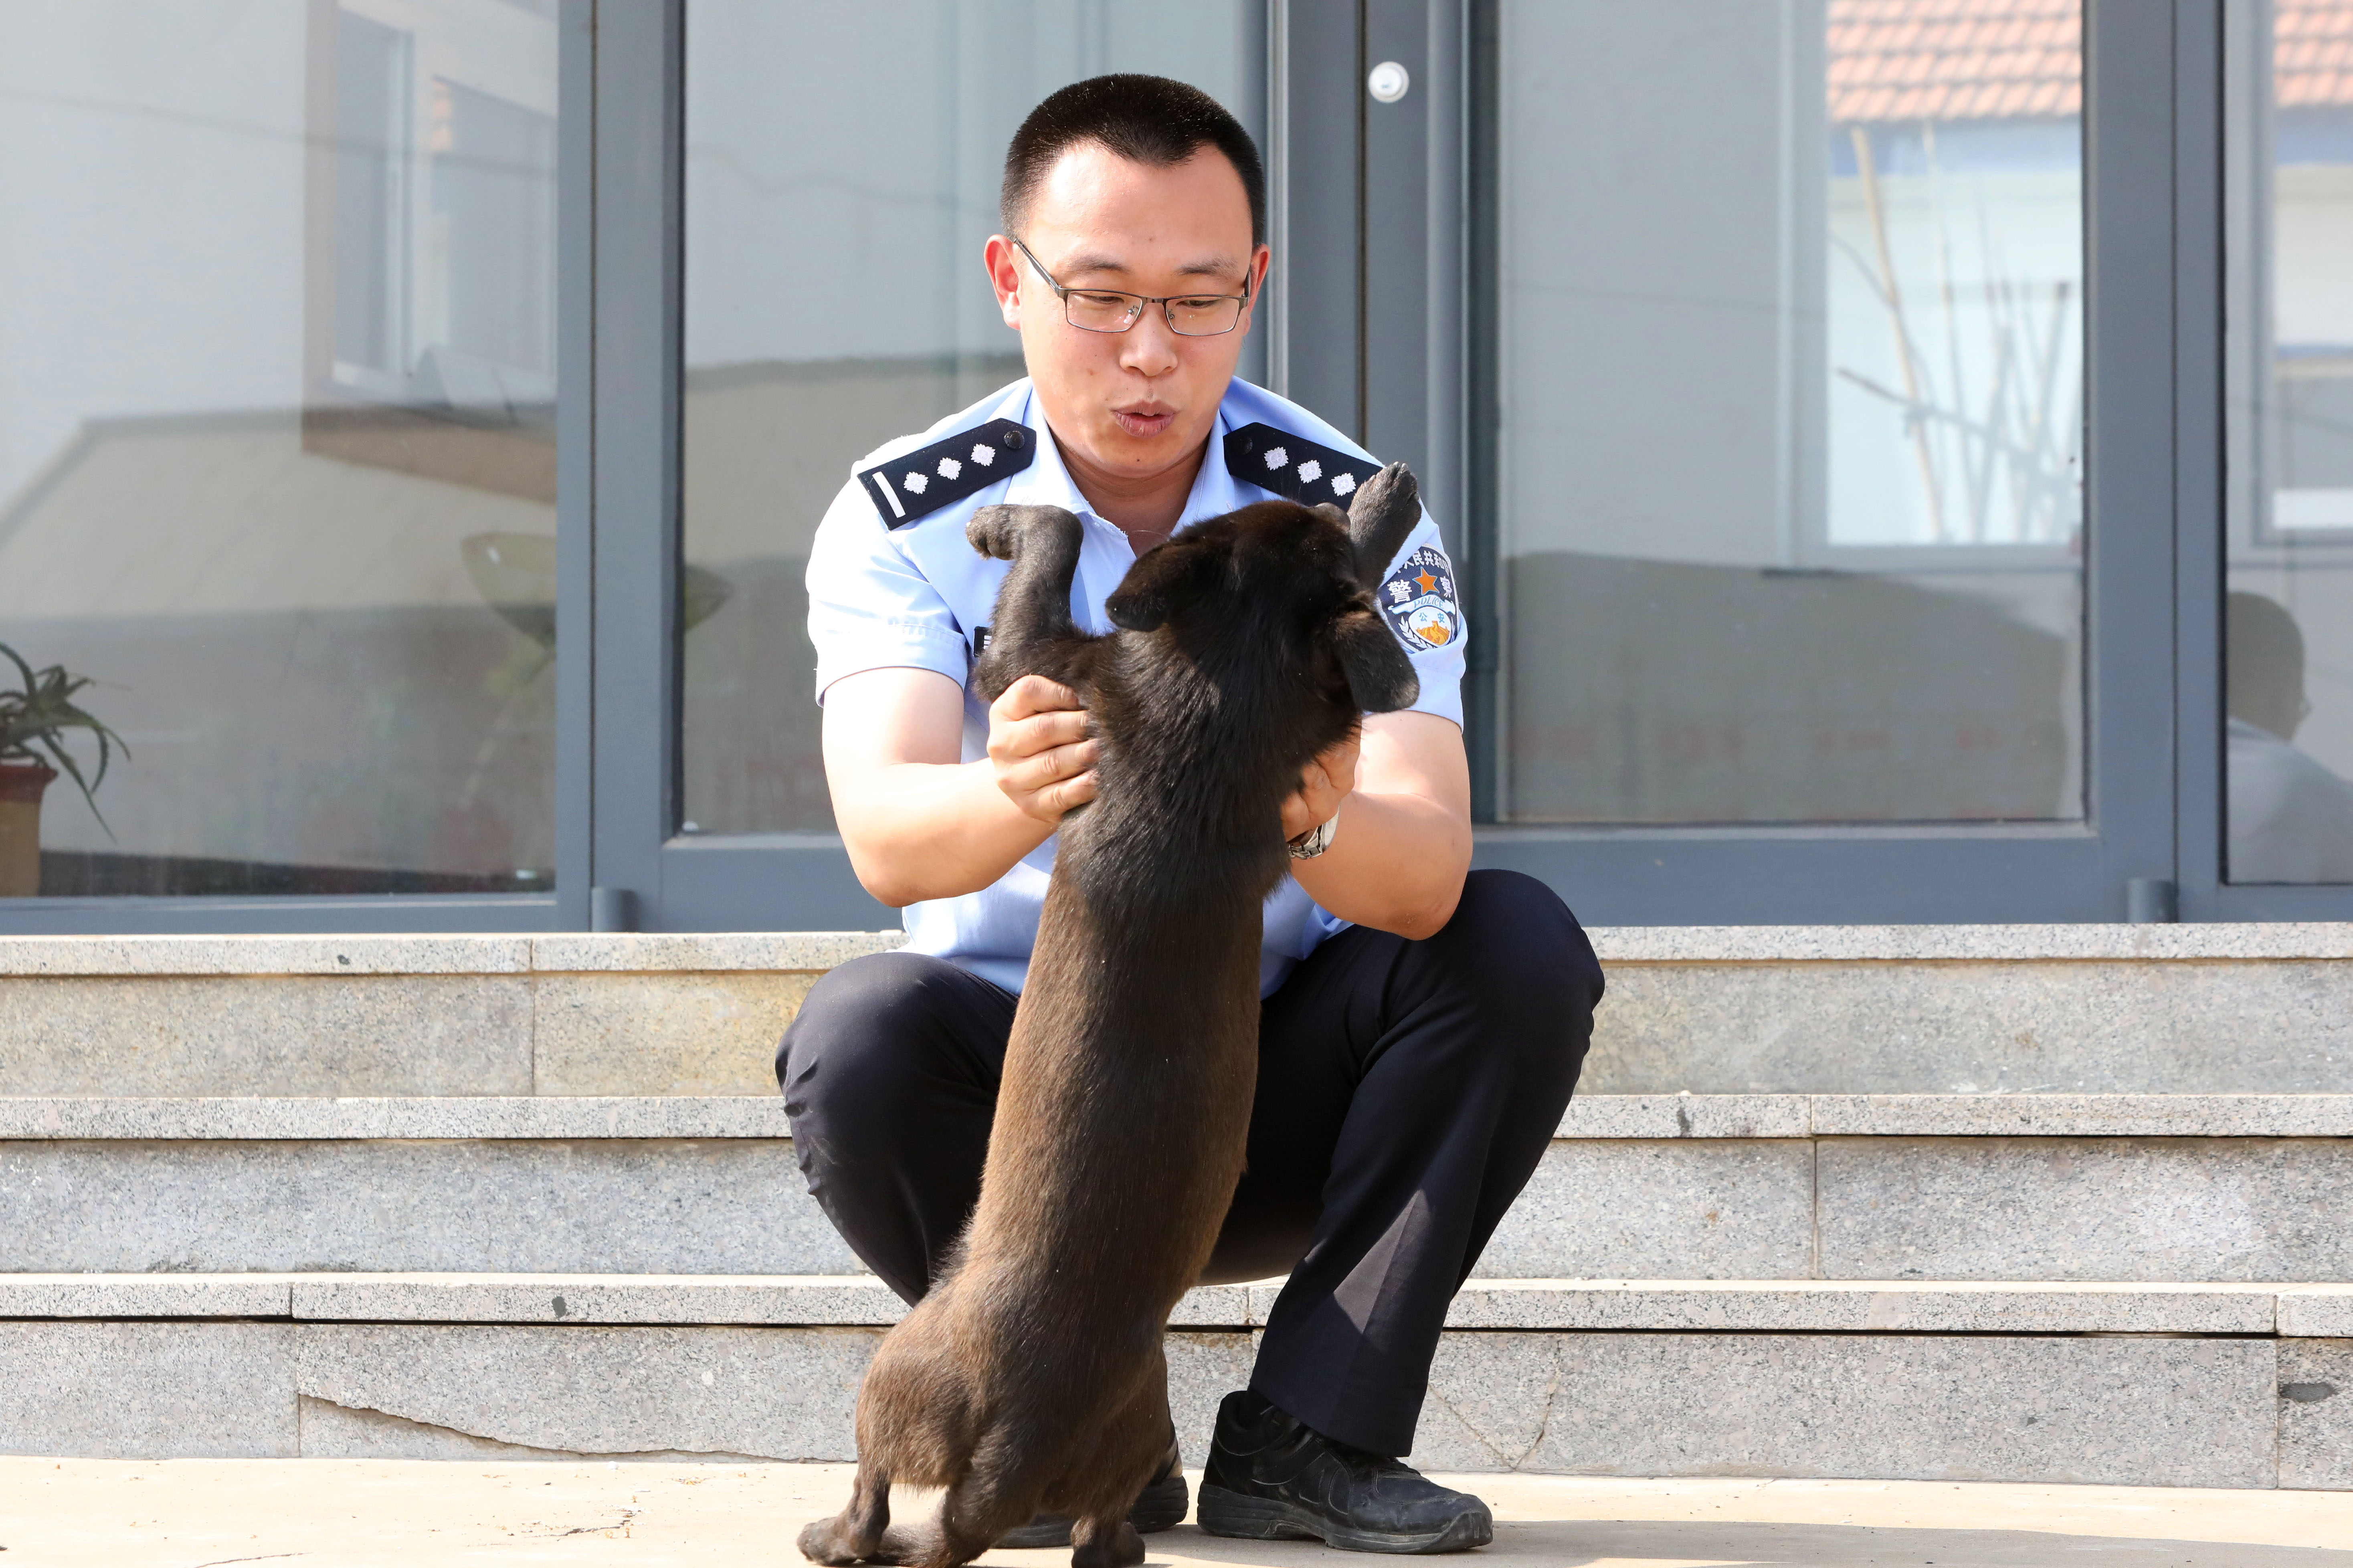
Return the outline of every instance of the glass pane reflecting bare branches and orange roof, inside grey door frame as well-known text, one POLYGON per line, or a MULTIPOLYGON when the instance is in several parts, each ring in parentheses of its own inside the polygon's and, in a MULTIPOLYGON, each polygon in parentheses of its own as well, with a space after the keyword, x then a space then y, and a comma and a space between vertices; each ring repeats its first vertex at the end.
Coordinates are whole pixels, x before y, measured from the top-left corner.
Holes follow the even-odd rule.
POLYGON ((1504 820, 2082 818, 2080 31, 1504 0, 1504 820))

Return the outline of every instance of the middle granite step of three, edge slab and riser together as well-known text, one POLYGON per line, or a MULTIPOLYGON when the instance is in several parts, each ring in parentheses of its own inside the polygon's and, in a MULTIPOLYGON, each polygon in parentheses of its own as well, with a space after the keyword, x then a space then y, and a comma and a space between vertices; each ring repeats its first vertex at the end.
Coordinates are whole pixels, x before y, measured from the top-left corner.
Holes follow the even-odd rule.
MULTIPOLYGON (((774 1095, 7 1098, 28 1272, 847 1274, 774 1095)), ((2353 1095, 1586 1095, 1482 1269, 2353 1279, 2353 1095)))

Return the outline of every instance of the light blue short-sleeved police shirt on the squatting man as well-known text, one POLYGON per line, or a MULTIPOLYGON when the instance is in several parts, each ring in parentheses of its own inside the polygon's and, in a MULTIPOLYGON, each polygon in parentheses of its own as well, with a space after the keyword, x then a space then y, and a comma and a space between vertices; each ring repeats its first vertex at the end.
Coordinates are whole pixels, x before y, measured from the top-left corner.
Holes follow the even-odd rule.
MULTIPOLYGON (((1019 442, 1021 435, 1012 433, 1009 440, 1019 442)), ((1245 435, 1242 440, 1254 437, 1245 435)), ((1217 409, 1209 451, 1202 458, 1200 477, 1193 480, 1193 494, 1186 496, 1176 531, 1278 494, 1242 480, 1228 468, 1228 461, 1245 473, 1259 473, 1257 465, 1266 463, 1268 470, 1275 470, 1275 482, 1289 482, 1297 494, 1301 475, 1306 480, 1318 475, 1318 463, 1299 456, 1306 447, 1322 447, 1329 454, 1346 454, 1372 465, 1362 447, 1299 404, 1247 381, 1233 381, 1217 409), (1259 440, 1252 454, 1240 456, 1228 435, 1252 425, 1271 425, 1273 433, 1289 433, 1297 440, 1292 449, 1280 437, 1259 440)), ((962 451, 962 440, 951 451, 962 451)), ((953 458, 944 461, 944 473, 960 477, 969 473, 967 484, 981 477, 981 470, 965 470, 953 458)), ((913 480, 913 484, 922 482, 913 480)), ((1325 477, 1327 489, 1341 484, 1348 480, 1325 477)), ((1061 451, 1047 435, 1031 383, 1021 378, 962 414, 939 421, 922 435, 878 447, 852 468, 849 484, 826 510, 809 548, 809 642, 816 644, 819 703, 826 701, 826 686, 861 670, 939 670, 965 686, 965 762, 988 755, 988 705, 967 684, 974 656, 972 632, 986 628, 995 614, 998 583, 1005 581, 1009 564, 979 555, 965 541, 965 520, 995 503, 1059 505, 1078 515, 1085 524, 1085 545, 1078 557, 1078 578, 1071 585, 1071 616, 1082 630, 1111 630, 1104 599, 1127 576, 1136 559, 1134 550, 1118 524, 1099 517, 1078 494, 1061 463, 1061 451), (915 449, 941 447, 946 437, 960 437, 960 433, 972 433, 991 421, 1012 421, 1031 433, 1035 454, 1028 468, 951 505, 911 515, 920 508, 920 501, 908 494, 913 487, 901 477, 901 484, 892 489, 889 470, 882 465, 896 465, 915 449), (882 473, 885 482, 868 491, 859 470, 882 473), (901 512, 894 520, 896 527, 887 522, 892 510, 901 512)), ((1435 712, 1461 724, 1466 625, 1454 571, 1445 559, 1445 545, 1428 508, 1421 510, 1421 522, 1384 574, 1377 602, 1421 677, 1421 698, 1414 703, 1414 712, 1435 712)), ((1019 992, 1028 973, 1031 947, 1038 940, 1038 910, 1045 905, 1052 870, 1054 839, 1047 839, 979 893, 908 905, 908 952, 929 952, 1019 992)), ((1259 994, 1282 985, 1299 959, 1327 936, 1346 929, 1348 922, 1318 907, 1299 882, 1285 877, 1266 898, 1259 994)))

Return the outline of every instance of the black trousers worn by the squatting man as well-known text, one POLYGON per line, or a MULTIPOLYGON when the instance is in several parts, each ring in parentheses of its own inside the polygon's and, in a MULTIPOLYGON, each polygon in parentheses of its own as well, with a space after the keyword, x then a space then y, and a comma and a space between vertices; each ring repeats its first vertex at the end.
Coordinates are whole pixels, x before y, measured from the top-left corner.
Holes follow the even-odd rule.
MULTIPOLYGON (((1344 931, 1261 1004, 1249 1166, 1207 1274, 1289 1272, 1252 1389, 1412 1450, 1447 1302, 1560 1126, 1600 994, 1560 898, 1487 870, 1438 936, 1344 931)), ((824 976, 776 1053, 809 1192, 908 1302, 979 1197, 1012 1023, 1012 992, 889 952, 824 976)))

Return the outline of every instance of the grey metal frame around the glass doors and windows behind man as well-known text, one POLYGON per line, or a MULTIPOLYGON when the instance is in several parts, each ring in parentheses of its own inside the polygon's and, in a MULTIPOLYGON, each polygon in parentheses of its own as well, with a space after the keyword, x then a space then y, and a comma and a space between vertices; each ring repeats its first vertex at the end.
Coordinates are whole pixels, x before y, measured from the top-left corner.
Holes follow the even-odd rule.
MULTIPOLYGON (((2353 886, 2221 882, 2219 0, 2085 5, 2089 816, 1927 827, 1487 820, 1497 254, 1473 219, 1497 202, 1499 0, 1266 14, 1268 378, 1412 461, 1445 524, 1473 628, 1478 865, 1551 882, 1593 924, 2113 922, 2134 882, 2177 889, 2184 919, 2353 919, 2353 886), (1402 103, 1362 92, 1377 59, 1412 68, 1402 103)), ((558 16, 555 891, 35 898, 0 903, 0 931, 896 924, 831 832, 678 832, 685 0, 558 16)))

